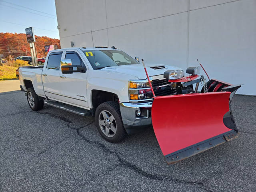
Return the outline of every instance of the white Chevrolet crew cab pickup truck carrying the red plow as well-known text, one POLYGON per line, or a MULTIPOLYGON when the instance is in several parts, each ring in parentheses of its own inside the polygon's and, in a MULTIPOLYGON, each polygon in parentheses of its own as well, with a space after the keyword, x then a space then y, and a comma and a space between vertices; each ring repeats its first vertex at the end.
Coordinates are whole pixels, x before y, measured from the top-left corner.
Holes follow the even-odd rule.
MULTIPOLYGON (((48 104, 95 116, 100 135, 118 142, 134 129, 152 124, 152 92, 137 60, 114 46, 53 50, 44 66, 20 68, 20 84, 32 110, 48 104)), ((156 96, 177 94, 176 84, 168 82, 163 74, 177 70, 183 76, 180 68, 146 64, 146 69, 156 96)), ((191 91, 188 86, 182 93, 191 91)))

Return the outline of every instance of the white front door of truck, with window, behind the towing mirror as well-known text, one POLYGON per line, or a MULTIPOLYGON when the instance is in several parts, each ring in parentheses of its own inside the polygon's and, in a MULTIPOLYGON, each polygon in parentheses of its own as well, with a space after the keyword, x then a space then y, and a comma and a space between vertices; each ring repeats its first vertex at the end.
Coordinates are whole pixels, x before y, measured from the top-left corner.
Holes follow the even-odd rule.
MULTIPOLYGON (((71 59, 72 65, 82 65, 86 68, 84 58, 75 50, 66 51, 64 59, 71 59)), ((62 100, 70 104, 87 108, 86 96, 86 72, 73 72, 72 74, 62 74, 60 71, 60 88, 62 100)))

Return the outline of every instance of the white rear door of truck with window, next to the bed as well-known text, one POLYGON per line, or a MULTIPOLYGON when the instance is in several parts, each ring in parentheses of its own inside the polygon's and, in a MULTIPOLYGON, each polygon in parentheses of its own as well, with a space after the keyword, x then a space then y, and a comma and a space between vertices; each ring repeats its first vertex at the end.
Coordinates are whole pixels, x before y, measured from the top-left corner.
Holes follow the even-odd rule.
POLYGON ((44 93, 48 98, 56 100, 61 99, 61 88, 59 85, 61 56, 62 52, 50 53, 42 71, 44 93))

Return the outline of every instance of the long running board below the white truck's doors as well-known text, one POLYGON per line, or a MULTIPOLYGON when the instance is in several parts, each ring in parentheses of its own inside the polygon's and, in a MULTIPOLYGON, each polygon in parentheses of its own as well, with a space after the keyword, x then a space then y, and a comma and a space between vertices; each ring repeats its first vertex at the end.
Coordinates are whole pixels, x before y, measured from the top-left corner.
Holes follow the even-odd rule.
POLYGON ((91 112, 89 110, 86 110, 86 109, 83 109, 83 108, 80 108, 80 107, 76 107, 76 106, 72 106, 72 105, 69 105, 69 104, 64 104, 64 103, 61 103, 61 102, 45 100, 44 104, 50 105, 52 107, 56 107, 56 108, 59 108, 59 109, 63 109, 63 110, 66 110, 68 112, 72 112, 72 113, 82 115, 82 116, 90 116, 91 115, 91 112))

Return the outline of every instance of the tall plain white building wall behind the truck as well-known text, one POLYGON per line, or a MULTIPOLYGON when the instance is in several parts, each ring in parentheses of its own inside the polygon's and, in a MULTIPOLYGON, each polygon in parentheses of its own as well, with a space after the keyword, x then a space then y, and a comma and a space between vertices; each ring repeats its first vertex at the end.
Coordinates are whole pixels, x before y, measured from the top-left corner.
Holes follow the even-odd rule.
POLYGON ((256 95, 256 0, 56 0, 62 48, 116 46, 148 63, 186 68, 256 95), (64 30, 66 29, 66 30, 64 30))

